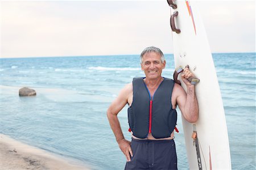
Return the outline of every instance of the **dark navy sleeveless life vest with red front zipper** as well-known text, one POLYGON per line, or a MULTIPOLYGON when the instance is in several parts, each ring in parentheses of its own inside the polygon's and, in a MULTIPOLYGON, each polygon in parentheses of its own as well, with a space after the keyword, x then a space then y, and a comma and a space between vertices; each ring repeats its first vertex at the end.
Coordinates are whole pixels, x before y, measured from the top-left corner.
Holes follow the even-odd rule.
POLYGON ((171 103, 174 80, 164 78, 151 99, 143 79, 133 79, 133 103, 128 108, 130 130, 137 138, 146 138, 148 133, 156 139, 170 137, 177 122, 171 103))

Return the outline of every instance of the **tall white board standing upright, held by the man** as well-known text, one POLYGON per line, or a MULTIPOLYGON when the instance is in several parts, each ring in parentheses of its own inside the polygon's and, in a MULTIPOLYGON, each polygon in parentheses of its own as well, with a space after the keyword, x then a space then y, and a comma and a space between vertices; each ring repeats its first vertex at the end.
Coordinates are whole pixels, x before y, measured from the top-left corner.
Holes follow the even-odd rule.
MULTIPOLYGON (((196 85, 199 119, 191 124, 182 117, 189 169, 231 169, 220 86, 196 2, 170 0, 168 3, 176 5, 171 7, 175 67, 189 65, 200 79, 196 85)), ((178 79, 186 91, 180 75, 178 79)))

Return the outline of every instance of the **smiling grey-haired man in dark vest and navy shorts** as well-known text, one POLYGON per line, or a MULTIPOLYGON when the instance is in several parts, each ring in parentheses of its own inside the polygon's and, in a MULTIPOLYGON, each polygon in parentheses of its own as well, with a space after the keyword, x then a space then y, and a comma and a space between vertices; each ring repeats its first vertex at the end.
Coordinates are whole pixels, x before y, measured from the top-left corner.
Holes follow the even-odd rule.
POLYGON ((198 104, 195 86, 187 79, 193 76, 185 68, 181 78, 187 86, 187 94, 174 80, 163 78, 166 66, 159 48, 148 47, 141 53, 141 69, 146 78, 134 78, 110 105, 107 116, 117 143, 125 154, 125 169, 177 169, 174 129, 177 120, 176 105, 185 120, 196 122, 198 104), (129 104, 129 131, 132 140, 127 141, 117 114, 129 104))

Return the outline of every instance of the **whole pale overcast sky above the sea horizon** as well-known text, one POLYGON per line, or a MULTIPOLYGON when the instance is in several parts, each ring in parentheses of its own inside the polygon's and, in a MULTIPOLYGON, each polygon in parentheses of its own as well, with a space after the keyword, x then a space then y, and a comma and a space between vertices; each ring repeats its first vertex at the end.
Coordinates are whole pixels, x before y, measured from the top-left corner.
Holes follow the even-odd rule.
MULTIPOLYGON (((212 53, 255 52, 255 1, 196 1, 212 53)), ((159 1, 3 1, 1 58, 173 53, 159 1)))

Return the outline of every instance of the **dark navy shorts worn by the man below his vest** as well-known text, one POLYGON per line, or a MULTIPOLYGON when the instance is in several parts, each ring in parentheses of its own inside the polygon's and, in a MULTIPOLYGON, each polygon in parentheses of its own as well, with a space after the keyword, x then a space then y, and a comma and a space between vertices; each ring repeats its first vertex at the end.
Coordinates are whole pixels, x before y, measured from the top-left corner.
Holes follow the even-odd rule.
POLYGON ((131 140, 133 157, 125 169, 177 169, 175 142, 171 140, 131 140))

